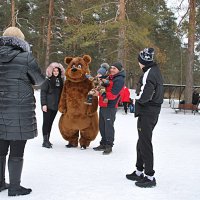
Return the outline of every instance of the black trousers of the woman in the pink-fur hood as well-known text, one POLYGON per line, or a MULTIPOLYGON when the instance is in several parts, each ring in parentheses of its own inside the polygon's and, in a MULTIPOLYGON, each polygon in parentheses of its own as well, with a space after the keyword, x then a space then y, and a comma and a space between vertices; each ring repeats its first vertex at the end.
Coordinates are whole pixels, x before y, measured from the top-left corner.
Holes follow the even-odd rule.
POLYGON ((43 112, 43 125, 42 125, 43 135, 50 135, 56 114, 57 110, 51 110, 51 109, 48 109, 47 112, 43 112))

